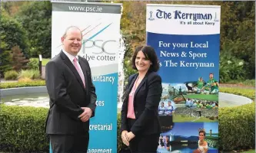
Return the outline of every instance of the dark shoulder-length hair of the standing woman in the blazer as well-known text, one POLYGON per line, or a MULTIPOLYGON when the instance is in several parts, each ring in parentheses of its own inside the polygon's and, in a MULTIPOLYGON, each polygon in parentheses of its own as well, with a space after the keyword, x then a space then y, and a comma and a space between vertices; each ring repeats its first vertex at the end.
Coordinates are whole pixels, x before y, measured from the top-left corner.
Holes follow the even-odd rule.
POLYGON ((135 49, 135 53, 133 54, 133 56, 131 58, 132 68, 134 70, 137 70, 136 65, 135 65, 135 59, 138 54, 138 51, 142 51, 142 53, 145 55, 146 59, 151 61, 152 64, 149 67, 149 71, 157 72, 159 70, 158 57, 155 54, 154 48, 150 47, 150 46, 140 46, 135 49))

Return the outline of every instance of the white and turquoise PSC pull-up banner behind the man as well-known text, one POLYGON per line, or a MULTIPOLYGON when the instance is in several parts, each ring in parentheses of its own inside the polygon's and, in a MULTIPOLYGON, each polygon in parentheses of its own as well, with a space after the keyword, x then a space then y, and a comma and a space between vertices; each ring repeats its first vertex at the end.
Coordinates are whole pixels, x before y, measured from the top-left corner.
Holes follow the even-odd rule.
POLYGON ((82 31, 79 52, 91 67, 97 102, 90 119, 88 153, 117 152, 118 51, 121 4, 52 2, 52 57, 62 50, 65 29, 82 31))

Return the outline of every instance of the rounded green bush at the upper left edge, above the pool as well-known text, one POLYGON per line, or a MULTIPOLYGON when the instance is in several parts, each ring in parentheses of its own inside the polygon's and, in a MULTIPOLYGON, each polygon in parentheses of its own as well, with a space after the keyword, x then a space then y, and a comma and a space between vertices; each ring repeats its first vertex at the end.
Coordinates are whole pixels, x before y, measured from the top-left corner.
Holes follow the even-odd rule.
POLYGON ((0 35, 4 36, 1 41, 7 44, 6 50, 12 50, 12 47, 18 45, 22 49, 23 54, 25 54, 25 57, 28 57, 28 35, 22 24, 8 16, 3 9, 0 21, 0 35))

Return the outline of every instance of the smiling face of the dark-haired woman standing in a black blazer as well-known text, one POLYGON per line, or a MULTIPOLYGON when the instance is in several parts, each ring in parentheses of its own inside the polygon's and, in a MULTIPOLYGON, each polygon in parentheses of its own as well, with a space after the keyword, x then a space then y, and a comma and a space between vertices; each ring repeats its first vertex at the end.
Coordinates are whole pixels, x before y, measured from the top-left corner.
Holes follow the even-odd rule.
POLYGON ((135 66, 138 72, 147 72, 150 67, 151 61, 147 60, 143 52, 140 50, 136 55, 135 66))

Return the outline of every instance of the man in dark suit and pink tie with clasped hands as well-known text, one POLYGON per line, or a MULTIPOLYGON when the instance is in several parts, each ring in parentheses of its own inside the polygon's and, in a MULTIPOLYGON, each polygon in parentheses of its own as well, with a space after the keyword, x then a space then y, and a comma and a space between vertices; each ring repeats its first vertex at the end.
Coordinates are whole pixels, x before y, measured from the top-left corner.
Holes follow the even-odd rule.
POLYGON ((89 119, 95 116, 95 86, 85 58, 78 57, 82 34, 79 28, 67 28, 63 49, 52 58, 45 71, 50 97, 46 133, 53 153, 87 152, 89 119))

